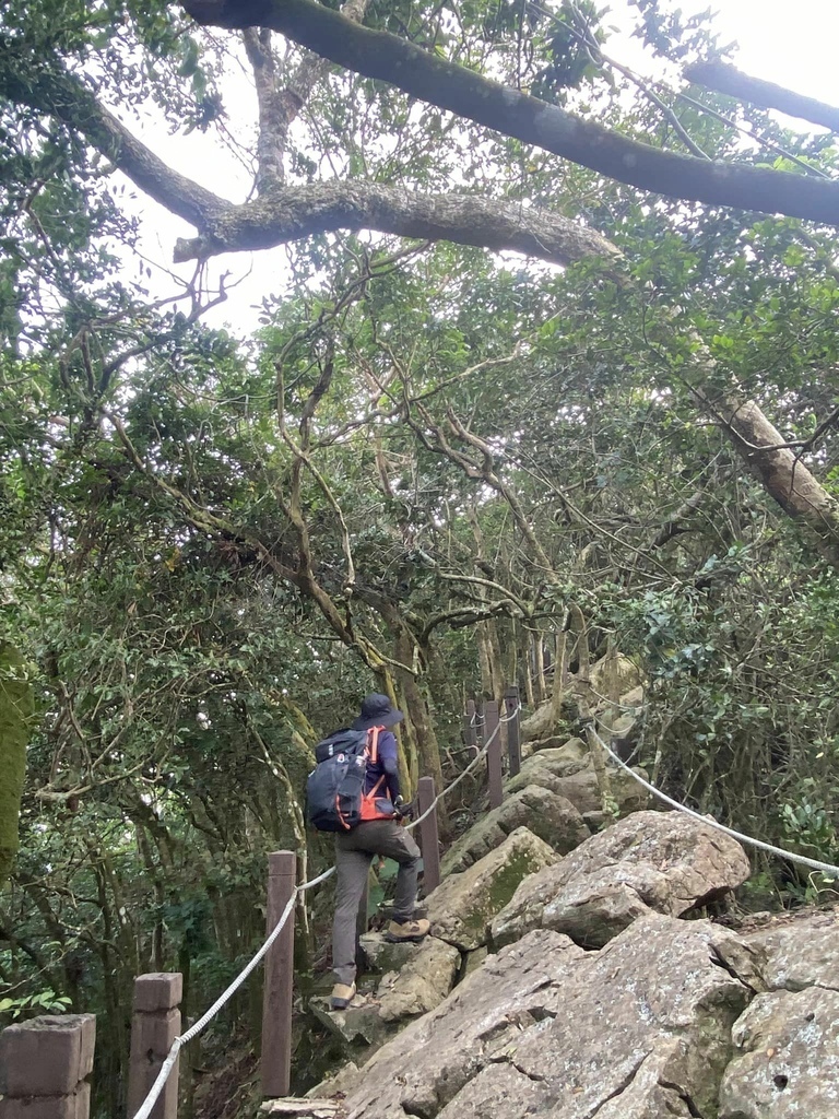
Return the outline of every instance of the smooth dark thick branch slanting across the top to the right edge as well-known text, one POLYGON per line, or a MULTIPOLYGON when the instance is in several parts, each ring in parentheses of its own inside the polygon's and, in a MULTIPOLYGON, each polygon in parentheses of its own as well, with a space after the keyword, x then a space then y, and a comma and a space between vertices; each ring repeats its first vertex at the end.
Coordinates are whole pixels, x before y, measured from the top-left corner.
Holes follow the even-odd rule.
POLYGON ((839 225, 839 182, 661 151, 371 31, 315 0, 183 0, 199 23, 270 27, 366 77, 575 163, 672 198, 839 225))

